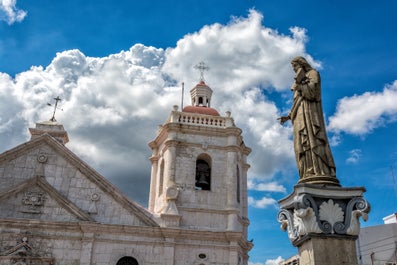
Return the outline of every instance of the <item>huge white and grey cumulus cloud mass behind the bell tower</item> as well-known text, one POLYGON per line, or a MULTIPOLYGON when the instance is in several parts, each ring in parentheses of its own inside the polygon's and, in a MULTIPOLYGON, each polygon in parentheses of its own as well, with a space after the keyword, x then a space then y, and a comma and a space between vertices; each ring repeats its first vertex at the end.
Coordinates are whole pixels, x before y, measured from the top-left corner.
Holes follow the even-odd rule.
MULTIPOLYGON (((305 54, 304 29, 282 35, 262 20, 252 10, 227 25, 204 26, 166 50, 135 44, 99 58, 68 50, 48 66, 34 66, 15 78, 0 74, 1 151, 15 146, 10 138, 22 142, 29 138, 29 126, 51 118, 47 102, 59 95, 63 111, 56 119, 69 133, 67 146, 127 195, 145 202, 148 189, 141 187, 149 185, 147 143, 172 106, 180 104, 180 83, 190 89, 198 82, 193 66, 204 60, 211 67, 205 78, 214 90, 212 106, 223 115, 232 112, 253 150, 250 179, 268 183, 256 189, 284 192, 272 177, 294 165, 291 127, 277 123, 279 110, 264 91, 288 91, 290 59, 311 57, 305 54)), ((184 102, 190 102, 187 93, 184 102)), ((274 203, 251 199, 255 207, 274 203)))

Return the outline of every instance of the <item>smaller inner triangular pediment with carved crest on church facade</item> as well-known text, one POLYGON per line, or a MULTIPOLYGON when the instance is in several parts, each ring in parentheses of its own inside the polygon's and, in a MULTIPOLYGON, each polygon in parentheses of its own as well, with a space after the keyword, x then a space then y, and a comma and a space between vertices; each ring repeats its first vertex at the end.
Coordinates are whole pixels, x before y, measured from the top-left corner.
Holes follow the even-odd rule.
POLYGON ((41 176, 35 176, 0 193, 0 217, 94 221, 88 213, 65 198, 41 176))

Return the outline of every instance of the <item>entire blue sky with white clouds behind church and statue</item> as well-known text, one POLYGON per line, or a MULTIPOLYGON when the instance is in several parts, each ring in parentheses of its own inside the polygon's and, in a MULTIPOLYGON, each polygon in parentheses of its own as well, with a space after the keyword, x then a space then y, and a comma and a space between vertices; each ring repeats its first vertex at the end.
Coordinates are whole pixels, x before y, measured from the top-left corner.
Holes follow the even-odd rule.
POLYGON ((252 148, 250 265, 277 264, 297 253, 276 219, 298 181, 291 124, 276 120, 297 55, 320 72, 339 181, 367 190, 362 226, 397 211, 396 12, 393 0, 0 0, 0 152, 29 140, 60 96, 67 147, 147 206, 147 143, 204 61, 212 107, 252 148))

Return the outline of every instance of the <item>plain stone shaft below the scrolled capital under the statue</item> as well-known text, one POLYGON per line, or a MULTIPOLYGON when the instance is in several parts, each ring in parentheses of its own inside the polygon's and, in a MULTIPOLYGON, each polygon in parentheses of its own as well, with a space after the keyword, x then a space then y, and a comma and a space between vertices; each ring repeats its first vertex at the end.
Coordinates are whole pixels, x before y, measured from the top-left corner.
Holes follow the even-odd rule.
POLYGON ((299 265, 357 265, 355 238, 310 237, 298 247, 299 265))

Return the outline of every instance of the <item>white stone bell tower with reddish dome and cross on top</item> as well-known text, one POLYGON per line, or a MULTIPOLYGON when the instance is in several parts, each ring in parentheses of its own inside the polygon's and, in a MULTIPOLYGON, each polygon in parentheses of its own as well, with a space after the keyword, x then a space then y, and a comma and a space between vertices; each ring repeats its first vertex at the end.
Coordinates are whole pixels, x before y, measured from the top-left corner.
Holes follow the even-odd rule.
POLYGON ((201 80, 190 90, 191 105, 174 106, 153 151, 149 211, 164 227, 238 232, 246 241, 247 156, 242 130, 230 112, 211 107, 212 89, 201 80))

